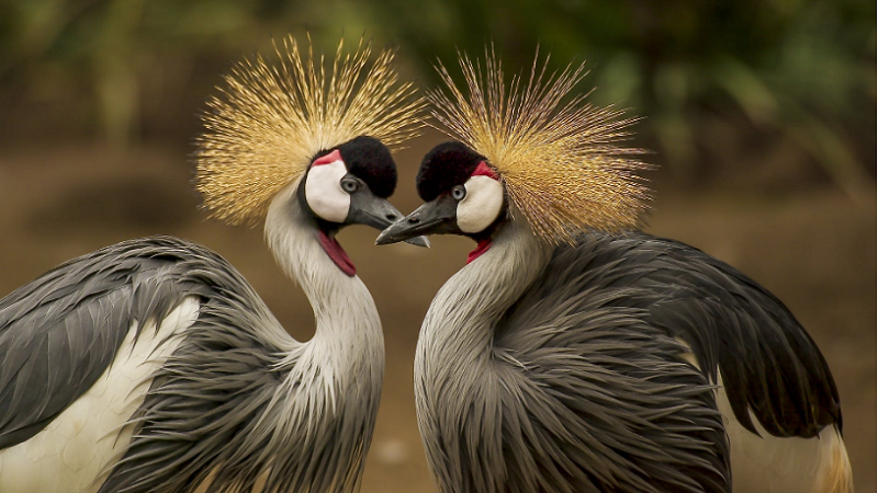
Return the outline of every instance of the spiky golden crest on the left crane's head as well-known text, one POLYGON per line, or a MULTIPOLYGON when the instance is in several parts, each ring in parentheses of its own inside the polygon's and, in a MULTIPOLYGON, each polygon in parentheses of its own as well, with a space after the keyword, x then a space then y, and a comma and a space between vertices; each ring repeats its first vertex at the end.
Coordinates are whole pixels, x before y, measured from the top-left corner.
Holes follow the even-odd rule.
POLYGON ((392 50, 370 61, 371 43, 349 53, 342 39, 328 68, 311 37, 300 49, 289 36, 274 51, 237 64, 203 116, 195 186, 211 216, 233 225, 259 219, 317 152, 359 136, 394 146, 420 127, 424 103, 397 81, 392 50))

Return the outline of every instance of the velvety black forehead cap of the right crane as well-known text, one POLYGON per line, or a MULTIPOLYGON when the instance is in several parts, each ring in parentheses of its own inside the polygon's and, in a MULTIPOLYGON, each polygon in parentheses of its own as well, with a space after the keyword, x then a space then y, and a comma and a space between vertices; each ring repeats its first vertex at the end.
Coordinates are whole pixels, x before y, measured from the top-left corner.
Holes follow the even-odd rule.
POLYGON ((465 145, 451 141, 434 147, 418 170, 417 187, 421 199, 430 202, 472 176, 485 158, 465 145))

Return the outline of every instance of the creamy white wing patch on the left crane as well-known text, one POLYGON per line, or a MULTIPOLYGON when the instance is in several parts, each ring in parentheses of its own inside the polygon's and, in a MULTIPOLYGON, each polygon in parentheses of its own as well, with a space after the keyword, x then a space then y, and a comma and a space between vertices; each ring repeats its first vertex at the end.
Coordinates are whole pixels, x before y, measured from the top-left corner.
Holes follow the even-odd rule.
POLYGON ((94 386, 34 437, 0 451, 0 492, 95 492, 131 440, 125 423, 143 403, 153 372, 179 346, 199 314, 194 297, 185 298, 156 323, 136 324, 112 365, 94 386))

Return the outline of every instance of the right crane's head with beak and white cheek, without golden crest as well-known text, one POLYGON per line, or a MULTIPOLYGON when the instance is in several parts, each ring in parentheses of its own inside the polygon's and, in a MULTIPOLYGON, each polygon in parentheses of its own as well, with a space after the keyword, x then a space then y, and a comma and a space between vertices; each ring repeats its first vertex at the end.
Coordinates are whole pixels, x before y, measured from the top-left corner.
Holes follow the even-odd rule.
POLYGON ((426 204, 382 231, 378 244, 419 234, 462 234, 479 242, 470 255, 473 261, 487 250, 493 232, 507 220, 506 191, 499 175, 484 157, 461 142, 440 144, 427 152, 417 187, 426 204))

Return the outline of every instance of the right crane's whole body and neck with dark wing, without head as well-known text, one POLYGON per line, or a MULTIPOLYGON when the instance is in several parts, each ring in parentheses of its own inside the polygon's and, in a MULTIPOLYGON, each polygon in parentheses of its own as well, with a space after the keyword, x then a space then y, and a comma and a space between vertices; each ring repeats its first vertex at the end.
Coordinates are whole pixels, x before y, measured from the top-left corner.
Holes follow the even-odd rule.
POLYGON ((419 337, 419 427, 443 491, 848 491, 829 368, 770 294, 645 233, 555 250, 507 229, 440 289, 419 337), (776 346, 735 354, 735 339, 776 346))

